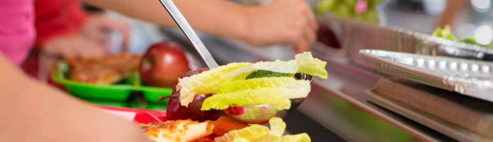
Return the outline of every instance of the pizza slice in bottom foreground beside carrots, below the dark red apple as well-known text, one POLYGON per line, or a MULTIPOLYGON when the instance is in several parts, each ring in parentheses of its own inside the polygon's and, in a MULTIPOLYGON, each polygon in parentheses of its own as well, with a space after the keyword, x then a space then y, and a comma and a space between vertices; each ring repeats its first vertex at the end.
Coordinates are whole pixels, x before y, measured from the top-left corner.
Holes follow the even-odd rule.
POLYGON ((169 120, 140 123, 139 127, 154 142, 193 142, 211 135, 214 125, 211 121, 169 120))

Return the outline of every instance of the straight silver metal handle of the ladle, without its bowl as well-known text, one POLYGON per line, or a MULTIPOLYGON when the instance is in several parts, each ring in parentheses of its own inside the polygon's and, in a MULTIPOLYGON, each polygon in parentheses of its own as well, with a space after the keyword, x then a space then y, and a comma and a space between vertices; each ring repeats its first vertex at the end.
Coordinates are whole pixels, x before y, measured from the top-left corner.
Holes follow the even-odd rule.
POLYGON ((195 50, 197 50, 199 55, 202 57, 202 60, 206 62, 207 67, 209 67, 209 69, 218 67, 219 65, 217 65, 214 58, 212 58, 212 55, 211 53, 209 53, 209 50, 207 50, 204 43, 202 43, 199 36, 197 36, 197 33, 195 33, 195 31, 190 26, 190 24, 188 24, 185 17, 183 17, 181 12, 176 7, 175 3, 173 3, 172 0, 159 0, 159 1, 161 1, 161 4, 163 4, 164 8, 166 8, 166 11, 170 13, 173 20, 175 20, 176 25, 178 25, 181 31, 183 31, 185 36, 188 38, 188 41, 190 41, 190 43, 195 48, 195 50))

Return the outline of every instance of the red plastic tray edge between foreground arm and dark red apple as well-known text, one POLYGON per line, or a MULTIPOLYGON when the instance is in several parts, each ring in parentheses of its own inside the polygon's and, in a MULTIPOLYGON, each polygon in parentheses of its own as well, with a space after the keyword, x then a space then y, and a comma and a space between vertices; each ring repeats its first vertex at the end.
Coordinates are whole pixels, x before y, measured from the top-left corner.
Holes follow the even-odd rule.
POLYGON ((94 105, 97 109, 120 116, 135 123, 164 122, 168 120, 166 111, 143 110, 133 108, 109 107, 94 105))

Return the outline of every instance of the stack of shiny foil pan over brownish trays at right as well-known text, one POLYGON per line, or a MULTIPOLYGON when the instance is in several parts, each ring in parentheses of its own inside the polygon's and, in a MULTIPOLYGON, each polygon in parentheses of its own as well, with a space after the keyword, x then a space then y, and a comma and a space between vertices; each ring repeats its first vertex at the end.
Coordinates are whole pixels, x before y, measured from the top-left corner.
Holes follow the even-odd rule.
POLYGON ((368 101, 459 141, 492 142, 493 62, 369 49, 359 54, 380 72, 414 81, 382 79, 366 91, 368 101))

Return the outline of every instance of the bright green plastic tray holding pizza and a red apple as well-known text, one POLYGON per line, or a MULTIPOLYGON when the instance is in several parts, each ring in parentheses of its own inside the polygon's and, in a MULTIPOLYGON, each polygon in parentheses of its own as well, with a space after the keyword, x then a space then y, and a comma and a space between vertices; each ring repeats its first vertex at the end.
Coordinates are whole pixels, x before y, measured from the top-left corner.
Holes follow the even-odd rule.
MULTIPOLYGON (((141 91, 148 102, 158 103, 158 97, 170 95, 172 88, 159 88, 138 85, 135 79, 128 78, 123 84, 114 85, 92 85, 73 82, 68 79, 69 67, 65 61, 59 61, 51 72, 51 79, 59 84, 65 85, 67 90, 80 98, 91 100, 113 100, 124 101, 129 98, 132 91, 141 91), (132 85, 136 84, 136 85, 132 85)), ((140 80, 137 80, 140 82, 140 80)), ((167 101, 159 103, 166 104, 167 101)))

